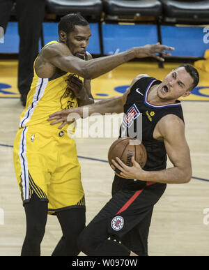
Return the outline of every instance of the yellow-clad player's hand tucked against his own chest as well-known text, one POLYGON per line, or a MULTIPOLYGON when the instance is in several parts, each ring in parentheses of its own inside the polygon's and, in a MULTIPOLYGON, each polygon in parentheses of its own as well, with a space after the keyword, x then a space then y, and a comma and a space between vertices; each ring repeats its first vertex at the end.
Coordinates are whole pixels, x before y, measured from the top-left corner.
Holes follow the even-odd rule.
POLYGON ((70 74, 66 80, 68 84, 68 89, 72 91, 74 96, 79 100, 84 100, 86 98, 86 91, 84 89, 84 84, 76 75, 70 74))

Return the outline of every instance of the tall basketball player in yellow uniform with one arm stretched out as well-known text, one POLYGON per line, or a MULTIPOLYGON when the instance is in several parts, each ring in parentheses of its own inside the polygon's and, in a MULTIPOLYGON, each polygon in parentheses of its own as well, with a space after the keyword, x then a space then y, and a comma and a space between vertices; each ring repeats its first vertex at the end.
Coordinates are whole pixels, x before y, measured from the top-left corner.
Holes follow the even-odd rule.
POLYGON ((77 237, 85 227, 85 200, 75 141, 65 123, 51 126, 49 114, 93 103, 90 80, 134 57, 155 57, 173 50, 160 44, 134 47, 109 57, 86 53, 91 36, 80 15, 59 22, 59 42, 42 48, 34 62, 34 77, 14 144, 14 164, 26 213, 22 255, 40 255, 47 213, 57 216, 63 237, 52 255, 78 255, 77 237), (88 61, 84 61, 87 60, 88 61), (71 74, 84 78, 84 83, 71 74))

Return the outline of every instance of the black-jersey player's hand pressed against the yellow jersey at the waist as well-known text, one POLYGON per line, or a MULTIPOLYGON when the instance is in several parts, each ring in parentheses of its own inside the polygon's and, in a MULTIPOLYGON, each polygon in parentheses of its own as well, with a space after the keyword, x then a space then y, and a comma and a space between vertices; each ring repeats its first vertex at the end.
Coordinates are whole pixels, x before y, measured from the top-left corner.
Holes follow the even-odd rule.
POLYGON ((50 125, 55 125, 56 123, 61 123, 59 129, 62 129, 67 123, 72 123, 81 117, 79 112, 79 107, 72 108, 70 110, 62 110, 60 112, 54 112, 54 114, 50 114, 47 121, 55 120, 50 123, 50 125))

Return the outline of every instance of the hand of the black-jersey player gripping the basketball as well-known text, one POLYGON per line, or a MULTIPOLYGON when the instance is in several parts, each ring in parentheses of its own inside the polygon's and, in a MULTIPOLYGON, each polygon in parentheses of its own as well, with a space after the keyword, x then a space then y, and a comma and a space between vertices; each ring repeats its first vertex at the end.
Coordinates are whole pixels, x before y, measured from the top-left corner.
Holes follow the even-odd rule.
POLYGON ((112 159, 111 162, 114 165, 111 165, 111 168, 116 171, 115 174, 118 175, 118 177, 123 177, 126 179, 139 179, 141 181, 145 180, 145 171, 142 170, 141 166, 137 161, 134 159, 134 156, 132 156, 132 167, 125 165, 123 161, 120 158, 116 158, 116 160, 112 159), (118 174, 118 170, 121 172, 118 174))

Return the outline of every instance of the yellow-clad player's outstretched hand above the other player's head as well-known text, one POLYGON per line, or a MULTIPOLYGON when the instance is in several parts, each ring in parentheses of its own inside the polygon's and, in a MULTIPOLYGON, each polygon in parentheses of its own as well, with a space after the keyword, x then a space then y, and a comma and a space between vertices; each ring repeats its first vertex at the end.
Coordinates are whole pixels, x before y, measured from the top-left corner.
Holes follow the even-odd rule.
POLYGON ((135 57, 143 58, 143 57, 153 57, 157 60, 164 61, 164 58, 160 57, 157 54, 162 54, 162 56, 170 56, 171 53, 164 52, 173 51, 175 50, 173 47, 169 47, 166 45, 161 45, 160 43, 153 44, 153 45, 145 45, 142 47, 134 47, 135 57), (156 54, 157 53, 157 54, 156 54))

